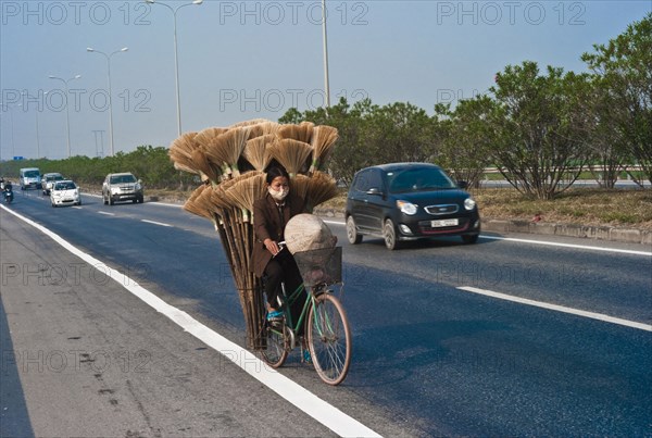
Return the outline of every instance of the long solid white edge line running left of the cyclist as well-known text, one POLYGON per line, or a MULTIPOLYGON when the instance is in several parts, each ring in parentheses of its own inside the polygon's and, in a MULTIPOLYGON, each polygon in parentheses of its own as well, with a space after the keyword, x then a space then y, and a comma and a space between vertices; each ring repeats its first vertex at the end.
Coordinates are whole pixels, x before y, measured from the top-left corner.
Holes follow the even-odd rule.
POLYGON ((48 228, 35 223, 34 221, 15 213, 10 209, 7 209, 4 205, 0 207, 20 220, 37 228, 41 233, 46 234, 71 253, 87 262, 90 266, 101 271, 104 276, 106 273, 109 273, 109 276, 112 279, 114 279, 134 296, 140 298, 154 310, 167 316, 190 335, 222 353, 226 359, 234 362, 250 376, 267 386, 269 389, 278 393, 280 397, 292 403, 308 415, 312 416, 317 422, 322 423, 324 426, 328 427, 335 434, 342 437, 380 437, 380 435, 378 435, 376 431, 347 415, 334 405, 319 399, 317 396, 278 373, 276 370, 269 368, 250 351, 213 331, 199 321, 195 320, 188 313, 167 304, 154 293, 145 289, 135 280, 128 278, 126 275, 124 275, 124 273, 106 266, 103 262, 90 254, 83 252, 67 240, 64 240, 58 234, 52 233, 48 228))

